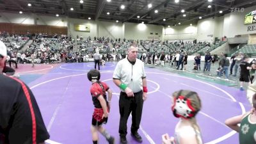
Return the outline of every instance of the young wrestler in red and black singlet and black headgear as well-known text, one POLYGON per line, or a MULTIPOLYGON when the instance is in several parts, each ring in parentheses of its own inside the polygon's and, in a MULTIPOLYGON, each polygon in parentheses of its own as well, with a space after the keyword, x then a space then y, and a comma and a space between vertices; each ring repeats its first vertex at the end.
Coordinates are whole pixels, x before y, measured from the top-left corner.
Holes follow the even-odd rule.
POLYGON ((92 94, 93 105, 95 106, 91 126, 93 144, 97 144, 99 140, 97 131, 99 131, 106 138, 109 144, 113 144, 115 138, 110 136, 106 129, 102 127, 102 124, 106 124, 108 122, 112 91, 106 83, 99 81, 99 70, 90 70, 87 77, 89 81, 92 81, 90 93, 92 94), (108 100, 106 92, 108 92, 108 100))

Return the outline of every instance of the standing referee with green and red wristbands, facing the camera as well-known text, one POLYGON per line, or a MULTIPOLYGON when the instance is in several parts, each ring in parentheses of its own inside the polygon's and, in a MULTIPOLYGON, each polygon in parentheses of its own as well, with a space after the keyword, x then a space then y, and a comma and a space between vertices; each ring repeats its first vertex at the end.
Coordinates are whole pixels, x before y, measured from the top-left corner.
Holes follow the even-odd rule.
POLYGON ((138 46, 131 44, 127 58, 117 63, 113 74, 113 82, 121 90, 119 99, 119 134, 122 144, 127 143, 127 120, 130 113, 132 113, 131 136, 142 143, 138 129, 140 128, 143 101, 147 99, 147 81, 144 63, 136 59, 137 55, 138 46))

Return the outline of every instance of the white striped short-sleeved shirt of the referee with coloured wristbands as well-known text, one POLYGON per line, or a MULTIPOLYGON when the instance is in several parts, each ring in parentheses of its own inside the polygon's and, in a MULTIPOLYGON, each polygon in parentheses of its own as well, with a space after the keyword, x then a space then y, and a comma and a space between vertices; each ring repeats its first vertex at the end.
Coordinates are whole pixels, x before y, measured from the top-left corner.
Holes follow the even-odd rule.
MULTIPOLYGON (((145 78, 144 63, 136 59, 136 63, 132 65, 127 58, 120 60, 115 68, 113 79, 120 79, 122 83, 127 84, 132 92, 140 92, 142 88, 142 78, 145 78)), ((124 90, 121 90, 124 92, 124 90)))

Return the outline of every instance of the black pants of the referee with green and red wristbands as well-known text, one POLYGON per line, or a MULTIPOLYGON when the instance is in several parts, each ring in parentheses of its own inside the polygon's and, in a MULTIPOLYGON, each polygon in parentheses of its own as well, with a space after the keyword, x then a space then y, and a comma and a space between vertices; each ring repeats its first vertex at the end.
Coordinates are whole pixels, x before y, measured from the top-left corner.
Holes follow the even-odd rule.
POLYGON ((140 128, 140 120, 143 108, 143 92, 134 93, 134 97, 127 97, 126 93, 120 93, 119 99, 119 134, 126 136, 127 134, 127 120, 130 113, 132 113, 132 126, 131 132, 137 132, 140 128))

